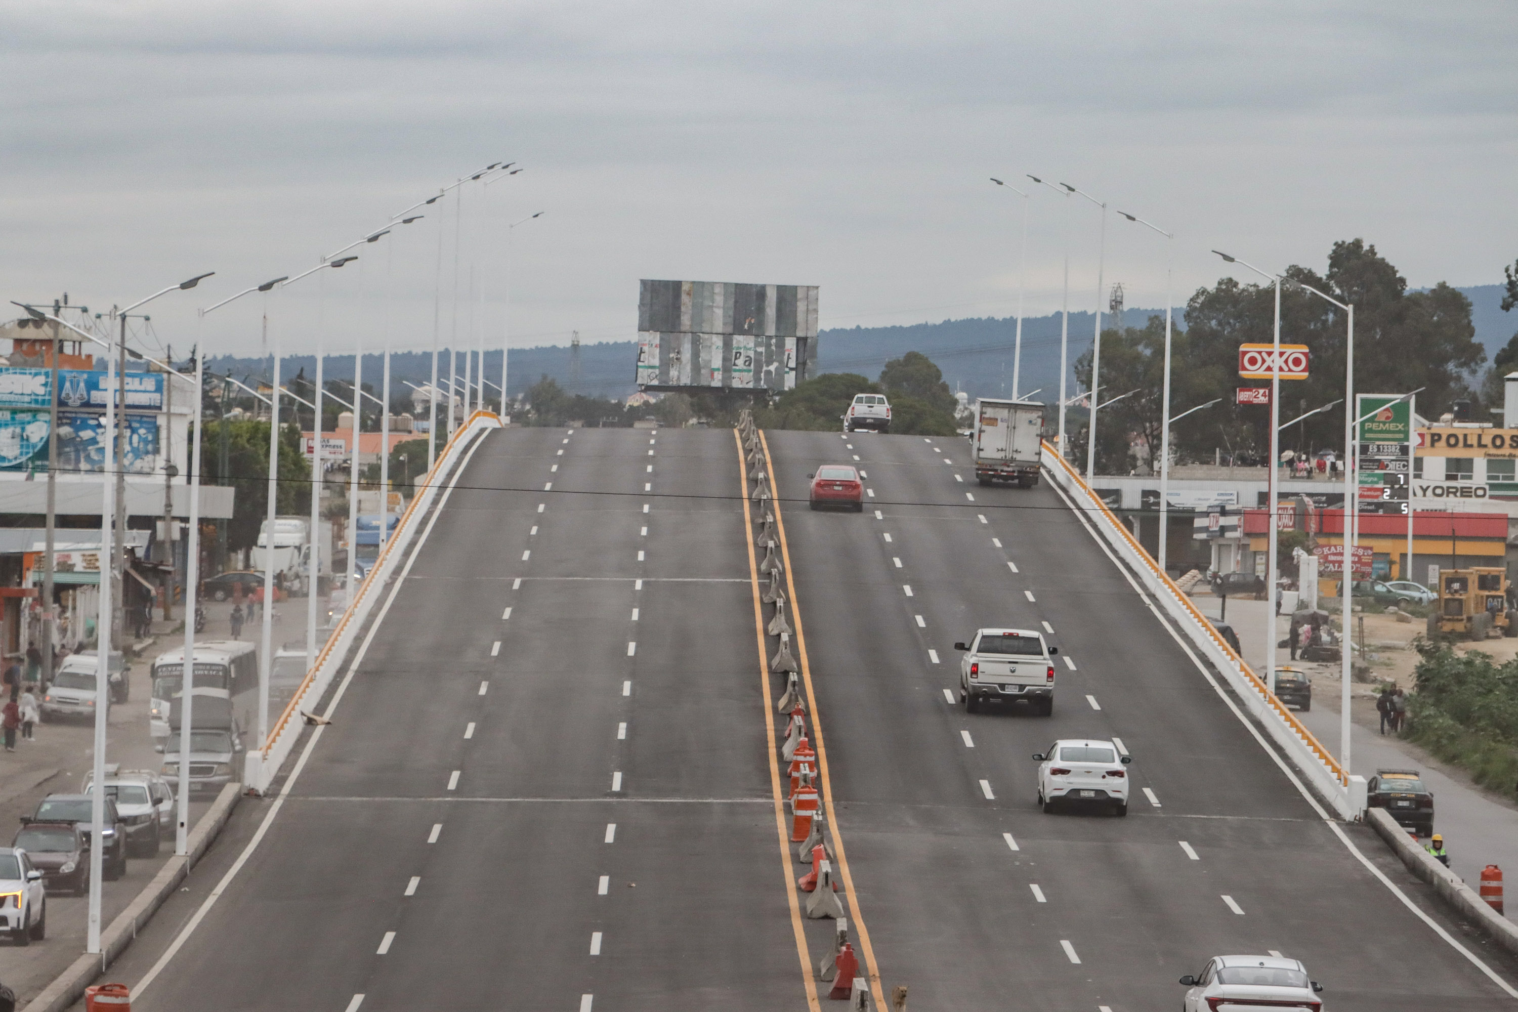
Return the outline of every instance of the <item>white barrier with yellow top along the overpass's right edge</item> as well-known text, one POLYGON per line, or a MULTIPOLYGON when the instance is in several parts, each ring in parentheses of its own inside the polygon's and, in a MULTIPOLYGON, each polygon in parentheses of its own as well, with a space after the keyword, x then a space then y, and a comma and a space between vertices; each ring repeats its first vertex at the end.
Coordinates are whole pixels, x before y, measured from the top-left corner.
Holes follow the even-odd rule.
MULTIPOLYGON (((1091 492, 1081 475, 1049 443, 1043 445, 1043 464, 1050 478, 1076 505, 1087 511, 1096 530, 1107 543, 1132 567, 1143 586, 1155 596, 1176 627, 1192 645, 1201 651, 1213 668, 1228 681, 1243 699, 1249 713, 1260 721, 1272 739, 1293 759, 1296 766, 1312 780, 1318 794, 1346 819, 1359 818, 1362 812, 1351 798, 1350 778, 1318 737, 1296 719, 1284 702, 1275 698, 1269 686, 1254 674, 1254 669, 1234 652, 1207 618, 1196 610, 1192 599, 1175 586, 1148 551, 1123 526, 1101 496, 1091 492)), ((1359 794, 1359 792, 1356 792, 1359 794)))

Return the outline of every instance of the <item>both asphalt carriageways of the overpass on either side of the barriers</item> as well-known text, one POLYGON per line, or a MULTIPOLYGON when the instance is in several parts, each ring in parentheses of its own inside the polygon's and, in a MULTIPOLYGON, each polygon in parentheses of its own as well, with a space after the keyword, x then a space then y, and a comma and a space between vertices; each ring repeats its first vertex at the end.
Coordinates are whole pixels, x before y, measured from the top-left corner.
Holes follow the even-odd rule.
MULTIPOLYGON (((1334 1012, 1513 1004, 1513 960, 1327 818, 1058 490, 976 486, 962 440, 762 445, 873 1001, 1170 1009, 1275 951, 1334 1012), (806 508, 823 463, 864 469, 862 514, 806 508), (1050 631, 1052 716, 958 706, 981 625, 1050 631), (1031 754, 1082 736, 1132 753, 1128 818, 1035 806, 1031 754)), ((483 434, 332 722, 111 971, 134 1006, 827 1006, 750 469, 732 431, 483 434)))

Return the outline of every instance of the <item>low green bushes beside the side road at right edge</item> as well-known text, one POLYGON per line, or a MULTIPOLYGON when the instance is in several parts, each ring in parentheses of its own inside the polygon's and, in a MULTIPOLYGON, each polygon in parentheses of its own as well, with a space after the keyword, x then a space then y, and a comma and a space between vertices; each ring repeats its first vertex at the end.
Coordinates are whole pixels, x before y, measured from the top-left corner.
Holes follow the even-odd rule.
POLYGON ((1518 658, 1498 665, 1422 637, 1415 645, 1421 660, 1403 736, 1483 787, 1518 790, 1518 658))

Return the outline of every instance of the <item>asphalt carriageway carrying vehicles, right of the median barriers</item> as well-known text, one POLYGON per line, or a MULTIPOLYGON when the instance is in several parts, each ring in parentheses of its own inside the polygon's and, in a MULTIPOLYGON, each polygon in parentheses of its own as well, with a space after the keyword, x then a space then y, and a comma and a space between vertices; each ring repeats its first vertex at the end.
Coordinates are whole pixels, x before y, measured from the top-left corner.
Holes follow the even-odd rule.
MULTIPOLYGON (((914 1007, 1178 1007, 1210 956, 1271 951, 1334 1012, 1512 1003, 1346 848, 1053 489, 978 486, 964 438, 768 443, 839 831, 914 1007), (806 508, 824 463, 865 470, 864 514, 806 508), (1052 716, 964 712, 953 643, 994 625, 1052 630, 1052 716), (1041 813, 1032 753, 1114 736, 1129 815, 1041 813)), ((1369 830, 1346 834, 1515 979, 1369 830)))

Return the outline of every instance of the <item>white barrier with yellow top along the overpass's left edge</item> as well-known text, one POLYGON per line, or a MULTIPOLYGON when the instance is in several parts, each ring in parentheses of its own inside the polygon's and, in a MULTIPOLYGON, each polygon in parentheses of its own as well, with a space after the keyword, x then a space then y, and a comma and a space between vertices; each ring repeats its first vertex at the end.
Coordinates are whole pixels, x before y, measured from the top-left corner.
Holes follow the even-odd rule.
POLYGON ((322 652, 317 654, 316 665, 311 671, 305 672, 301 686, 290 698, 284 713, 279 715, 279 721, 269 733, 269 740, 264 742, 263 748, 247 753, 243 769, 243 784, 246 787, 260 794, 269 789, 275 774, 279 772, 279 766, 290 754, 290 750, 294 748, 296 739, 301 737, 301 724, 294 721, 294 715, 299 713, 302 706, 314 706, 322 698, 322 693, 326 692, 332 675, 342 666, 349 648, 352 648, 358 630, 363 627, 364 619, 369 618, 373 602, 380 598, 380 590, 390 580, 390 574, 395 570, 401 555, 405 554, 405 546, 416 536, 420 519, 427 516, 427 510, 431 508, 433 501, 437 498, 443 479, 458 463, 465 448, 477 434, 495 428, 501 428, 499 416, 492 411, 475 411, 465 425, 454 431, 443 452, 437 455, 433 469, 427 472, 422 490, 411 496, 411 504, 401 514, 401 522, 395 528, 395 537, 386 542, 384 551, 380 552, 373 569, 369 570, 369 575, 358 586, 358 593, 352 596, 348 608, 343 611, 343 618, 337 622, 337 628, 328 637, 322 652))

